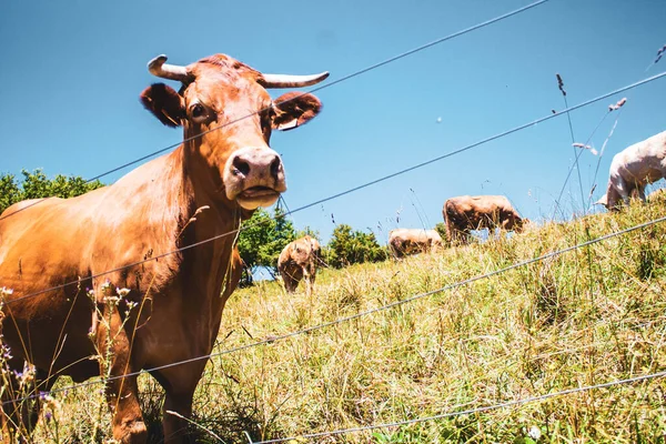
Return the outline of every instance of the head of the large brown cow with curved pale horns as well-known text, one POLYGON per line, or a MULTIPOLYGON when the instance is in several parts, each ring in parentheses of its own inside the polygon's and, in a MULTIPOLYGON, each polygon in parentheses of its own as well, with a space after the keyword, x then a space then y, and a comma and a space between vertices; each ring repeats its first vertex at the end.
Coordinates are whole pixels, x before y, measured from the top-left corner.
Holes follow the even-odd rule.
POLYGON ((290 92, 272 100, 269 88, 315 84, 329 77, 264 74, 216 54, 186 67, 164 63, 165 56, 148 64, 158 77, 182 83, 176 92, 155 83, 141 93, 141 102, 168 127, 184 128, 184 149, 193 153, 189 165, 205 186, 245 210, 273 204, 286 190, 280 155, 269 147, 272 130, 291 130, 321 110, 310 93, 290 92))

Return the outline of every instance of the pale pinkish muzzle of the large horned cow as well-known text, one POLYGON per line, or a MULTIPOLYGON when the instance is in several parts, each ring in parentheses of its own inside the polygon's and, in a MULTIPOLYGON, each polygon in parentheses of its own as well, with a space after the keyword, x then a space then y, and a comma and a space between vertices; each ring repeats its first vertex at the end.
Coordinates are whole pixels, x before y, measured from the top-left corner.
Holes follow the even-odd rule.
POLYGON ((224 167, 224 189, 229 200, 245 210, 270 206, 286 191, 282 159, 270 148, 242 148, 224 167))

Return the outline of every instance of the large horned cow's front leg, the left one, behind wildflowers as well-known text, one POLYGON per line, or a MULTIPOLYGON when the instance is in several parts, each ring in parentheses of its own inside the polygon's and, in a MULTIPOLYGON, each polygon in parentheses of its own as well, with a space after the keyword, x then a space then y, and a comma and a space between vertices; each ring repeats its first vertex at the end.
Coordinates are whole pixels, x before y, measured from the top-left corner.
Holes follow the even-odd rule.
POLYGON ((139 405, 137 376, 122 377, 135 369, 131 365, 131 342, 117 309, 108 305, 98 324, 95 342, 100 374, 110 379, 104 392, 113 416, 113 438, 127 444, 143 444, 148 431, 139 405))

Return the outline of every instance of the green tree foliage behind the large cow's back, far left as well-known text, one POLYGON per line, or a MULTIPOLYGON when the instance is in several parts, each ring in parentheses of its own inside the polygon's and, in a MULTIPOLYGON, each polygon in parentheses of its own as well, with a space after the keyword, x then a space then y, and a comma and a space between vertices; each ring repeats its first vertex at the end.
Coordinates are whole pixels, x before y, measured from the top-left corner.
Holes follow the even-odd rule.
POLYGON ((74 198, 104 186, 99 180, 85 182, 78 175, 58 174, 49 179, 41 169, 32 172, 22 170, 21 174, 22 179, 17 179, 13 174, 0 174, 0 213, 26 199, 74 198))

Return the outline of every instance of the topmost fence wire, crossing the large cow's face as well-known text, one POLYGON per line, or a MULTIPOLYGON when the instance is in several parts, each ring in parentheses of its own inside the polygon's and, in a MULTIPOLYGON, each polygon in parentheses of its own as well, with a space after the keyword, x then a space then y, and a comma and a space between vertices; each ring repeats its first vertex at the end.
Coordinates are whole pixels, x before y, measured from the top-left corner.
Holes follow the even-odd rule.
MULTIPOLYGON (((331 88, 331 87, 333 87, 333 85, 335 85, 335 84, 339 84, 339 83, 345 82, 345 81, 347 81, 347 80, 350 80, 350 79, 356 78, 356 77, 359 77, 359 75, 362 75, 362 74, 364 74, 364 73, 366 73, 366 72, 374 71, 374 70, 376 70, 376 69, 379 69, 379 68, 381 68, 381 67, 384 67, 384 65, 386 65, 386 64, 393 63, 393 62, 395 62, 395 61, 398 61, 398 60, 401 60, 401 59, 404 59, 404 58, 406 58, 406 57, 410 57, 410 56, 412 56, 412 54, 415 54, 415 53, 417 53, 417 52, 421 52, 421 51, 423 51, 423 50, 426 50, 426 49, 428 49, 428 48, 431 48, 431 47, 437 46, 437 44, 440 44, 440 43, 444 43, 444 42, 446 42, 446 41, 448 41, 448 40, 453 40, 453 39, 455 39, 455 38, 457 38, 457 37, 464 36, 464 34, 466 34, 466 33, 470 33, 470 32, 472 32, 472 31, 476 31, 476 30, 478 30, 478 29, 482 29, 482 28, 485 28, 485 27, 487 27, 487 26, 490 26, 490 24, 493 24, 493 23, 496 23, 496 22, 498 22, 498 21, 502 21, 502 20, 508 19, 508 18, 511 18, 511 17, 513 17, 513 16, 517 16, 517 14, 519 14, 521 12, 525 12, 525 11, 527 11, 527 10, 532 9, 532 8, 535 8, 535 7, 537 7, 537 6, 541 6, 541 4, 543 4, 543 3, 546 3, 546 2, 548 2, 548 1, 549 1, 549 0, 538 0, 538 1, 535 1, 535 2, 533 2, 533 3, 526 4, 526 6, 522 7, 522 8, 514 9, 513 11, 506 12, 506 13, 504 13, 504 14, 502 14, 502 16, 497 16, 497 17, 495 17, 495 18, 493 18, 493 19, 490 19, 490 20, 483 21, 483 22, 481 22, 481 23, 476 23, 476 24, 474 24, 474 26, 472 26, 472 27, 468 27, 468 28, 465 28, 465 29, 463 29, 463 30, 460 30, 460 31, 453 32, 453 33, 451 33, 451 34, 448 34, 448 36, 445 36, 445 37, 438 38, 438 39, 436 39, 436 40, 433 40, 433 41, 431 41, 431 42, 427 42, 427 43, 425 43, 425 44, 418 46, 418 47, 416 47, 416 48, 413 48, 413 49, 411 49, 411 50, 408 50, 408 51, 402 52, 402 53, 400 53, 400 54, 397 54, 397 56, 393 56, 393 57, 391 57, 391 58, 389 58, 389 59, 385 59, 385 60, 383 60, 383 61, 381 61, 381 62, 377 62, 377 63, 371 64, 371 65, 369 65, 369 67, 365 67, 365 68, 363 68, 363 69, 360 69, 360 70, 357 70, 357 71, 354 71, 354 72, 352 72, 351 74, 343 75, 343 77, 341 77, 340 79, 336 79, 336 80, 333 80, 333 81, 331 81, 331 82, 327 82, 327 83, 325 83, 325 84, 322 84, 322 85, 320 85, 320 87, 313 88, 313 89, 311 89, 309 92, 310 92, 310 93, 312 93, 312 92, 317 92, 317 91, 325 90, 325 89, 327 89, 327 88, 331 88)), ((304 92, 304 93, 301 93, 301 94, 296 94, 296 95, 294 95, 294 97, 292 97, 292 98, 290 98, 290 99, 287 99, 287 100, 284 100, 282 103, 284 104, 284 103, 291 102, 291 101, 293 101, 293 100, 296 100, 296 99, 299 99, 299 98, 301 98, 301 97, 305 95, 306 93, 307 93, 307 92, 304 92)), ((249 114, 246 114, 246 115, 243 115, 243 117, 241 117, 241 118, 239 118, 239 119, 232 120, 231 122, 226 122, 226 123, 224 123, 224 124, 221 124, 221 125, 219 125, 219 127, 211 128, 210 130, 203 131, 203 132, 201 132, 201 133, 199 133, 199 134, 194 134, 194 135, 192 135, 192 137, 190 137, 190 138, 185 138, 185 139, 183 139, 183 140, 182 140, 182 141, 180 141, 180 142, 172 143, 172 144, 170 144, 170 145, 168 145, 168 147, 161 148, 161 149, 159 149, 159 150, 157 150, 157 151, 153 151, 153 152, 151 152, 151 153, 148 153, 148 154, 145 154, 145 155, 142 155, 142 157, 140 157, 139 159, 135 159, 135 160, 129 161, 129 162, 127 162, 127 163, 123 163, 123 164, 121 164, 121 165, 119 165, 119 167, 115 167, 115 168, 113 168, 113 169, 111 169, 111 170, 108 170, 108 171, 105 171, 105 172, 103 172, 103 173, 100 173, 100 174, 98 174, 98 175, 95 175, 95 176, 93 176, 93 178, 87 179, 87 180, 85 180, 83 183, 90 183, 90 182, 94 182, 95 180, 99 180, 99 179, 101 179, 101 178, 104 178, 104 176, 107 176, 107 175, 109 175, 109 174, 112 174, 112 173, 114 173, 114 172, 118 172, 118 171, 120 171, 120 170, 123 170, 123 169, 125 169, 125 168, 128 168, 128 167, 134 165, 134 164, 137 164, 137 163, 139 163, 139 162, 143 162, 144 160, 148 160, 148 159, 150 159, 150 158, 153 158, 153 157, 155 157, 155 155, 158 155, 158 154, 161 154, 161 153, 164 153, 164 152, 167 152, 167 151, 169 151, 169 150, 172 150, 172 149, 174 149, 174 148, 178 148, 179 145, 181 145, 181 144, 183 144, 183 143, 191 142, 191 141, 193 141, 193 140, 195 140, 195 139, 199 139, 199 138, 201 138, 201 137, 203 137, 203 135, 205 135, 205 134, 209 134, 209 133, 211 133, 211 132, 213 132, 213 131, 218 131, 218 130, 221 130, 221 129, 223 129, 223 128, 225 128, 225 127, 229 127, 229 125, 235 124, 235 123, 238 123, 238 122, 240 122, 240 121, 242 121, 242 120, 250 119, 251 117, 253 117, 253 115, 255 115, 255 114, 263 113, 263 112, 268 111, 268 110, 269 110, 269 108, 270 108, 270 107, 268 107, 268 108, 264 108, 264 109, 261 109, 261 110, 259 110, 259 111, 251 112, 251 113, 249 113, 249 114)), ((9 216, 11 216, 11 215, 13 215, 13 214, 16 214, 16 213, 19 213, 19 212, 21 212, 21 211, 24 211, 24 210, 27 210, 27 209, 29 209, 29 208, 31 208, 31 206, 33 206, 33 205, 37 205, 37 204, 39 204, 40 202, 41 202, 41 200, 40 200, 40 201, 36 201, 36 202, 33 202, 33 203, 31 203, 31 204, 29 204, 29 205, 26 205, 26 206, 23 206, 23 208, 21 208, 21 209, 17 210, 17 211, 14 211, 13 213, 6 214, 6 215, 3 215, 3 216, 1 216, 1 218, 0 218, 0 221, 1 221, 1 220, 3 220, 3 219, 7 219, 7 218, 9 218, 9 216)))

